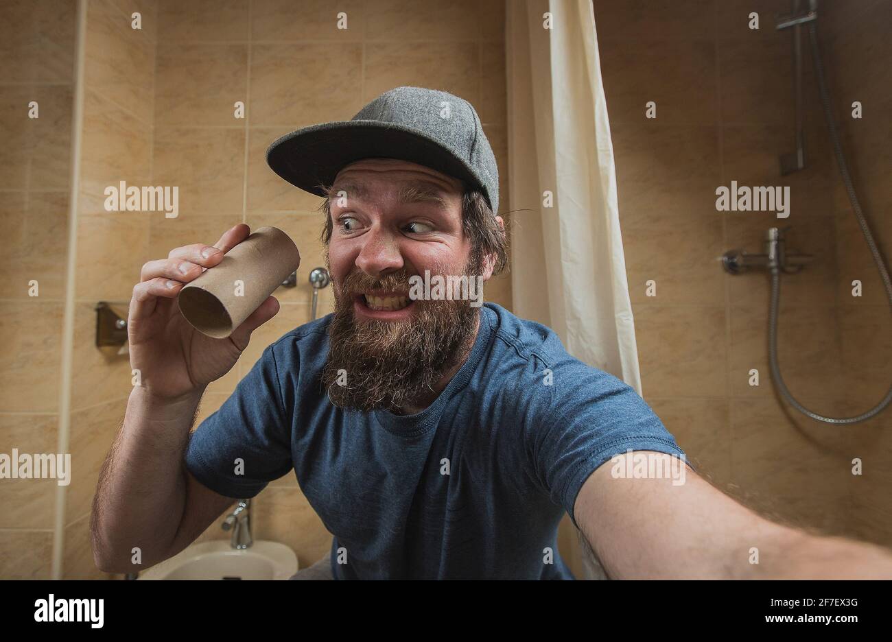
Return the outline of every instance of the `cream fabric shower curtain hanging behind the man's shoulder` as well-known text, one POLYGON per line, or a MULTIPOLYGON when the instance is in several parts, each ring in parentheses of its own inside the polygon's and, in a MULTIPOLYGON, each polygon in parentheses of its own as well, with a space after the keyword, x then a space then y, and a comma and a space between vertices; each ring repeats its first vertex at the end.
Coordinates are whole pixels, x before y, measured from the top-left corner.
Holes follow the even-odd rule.
POLYGON ((506 56, 514 313, 640 394, 591 0, 508 0, 506 56))

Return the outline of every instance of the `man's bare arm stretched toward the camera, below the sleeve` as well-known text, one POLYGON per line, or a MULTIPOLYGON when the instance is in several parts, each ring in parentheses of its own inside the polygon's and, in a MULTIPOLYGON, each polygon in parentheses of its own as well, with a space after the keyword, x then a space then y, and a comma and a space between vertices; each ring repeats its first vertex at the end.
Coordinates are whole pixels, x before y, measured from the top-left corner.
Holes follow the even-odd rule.
MULTIPOLYGON (((615 461, 622 457, 624 466, 646 452, 615 461)), ((690 468, 682 484, 615 477, 615 469, 600 465, 574 504, 576 523, 612 578, 892 579, 892 551, 770 522, 690 468)))

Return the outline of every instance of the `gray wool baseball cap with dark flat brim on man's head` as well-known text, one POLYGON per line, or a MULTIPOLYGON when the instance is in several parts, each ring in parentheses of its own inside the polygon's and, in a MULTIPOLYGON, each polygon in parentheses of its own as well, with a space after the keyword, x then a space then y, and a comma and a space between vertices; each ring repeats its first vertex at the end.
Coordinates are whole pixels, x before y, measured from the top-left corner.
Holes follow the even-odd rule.
POLYGON ((379 95, 350 120, 285 134, 267 150, 267 164, 305 192, 365 158, 392 158, 436 169, 475 185, 499 213, 499 168, 471 103, 448 92, 401 86, 379 95))

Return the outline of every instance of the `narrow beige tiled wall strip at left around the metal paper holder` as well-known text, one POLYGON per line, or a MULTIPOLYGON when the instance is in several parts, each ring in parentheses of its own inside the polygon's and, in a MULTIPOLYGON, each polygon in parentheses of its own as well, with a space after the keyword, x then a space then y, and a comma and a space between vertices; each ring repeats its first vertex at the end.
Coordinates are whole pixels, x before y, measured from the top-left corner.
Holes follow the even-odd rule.
POLYGON ((74 335, 62 577, 107 579, 93 563, 89 514, 99 469, 131 390, 126 355, 95 346, 98 301, 121 317, 148 258, 144 212, 106 211, 109 185, 153 185, 155 31, 152 2, 90 0, 84 44, 84 106, 75 244, 74 335), (131 15, 140 12, 142 29, 131 15), (136 276, 135 276, 136 275, 136 276))

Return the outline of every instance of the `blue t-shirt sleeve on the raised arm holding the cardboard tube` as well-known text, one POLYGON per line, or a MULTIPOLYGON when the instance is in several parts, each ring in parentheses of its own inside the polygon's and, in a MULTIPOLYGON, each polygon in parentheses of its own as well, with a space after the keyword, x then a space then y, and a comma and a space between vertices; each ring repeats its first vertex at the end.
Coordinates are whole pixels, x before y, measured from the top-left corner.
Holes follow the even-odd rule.
POLYGON ((217 412, 194 430, 186 469, 230 498, 256 496, 292 467, 291 422, 270 345, 217 412))

